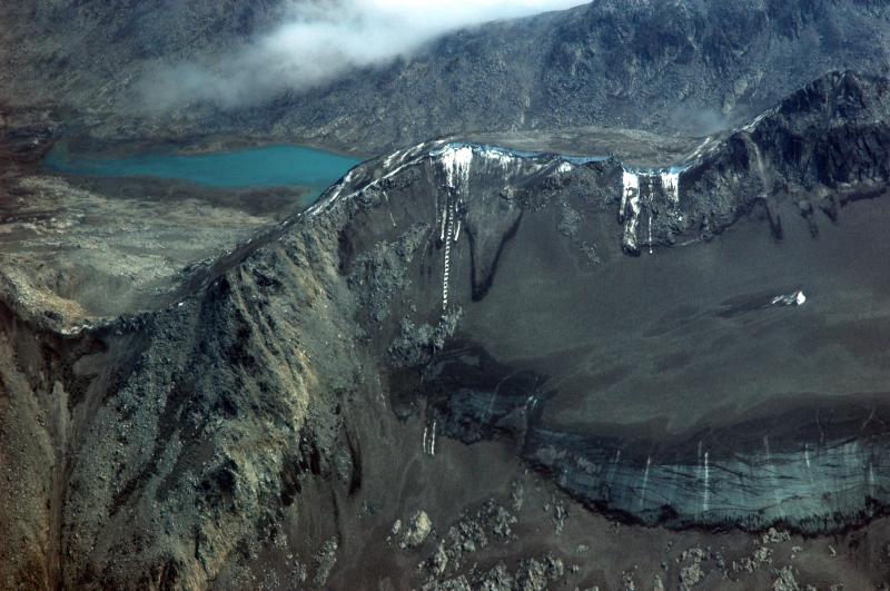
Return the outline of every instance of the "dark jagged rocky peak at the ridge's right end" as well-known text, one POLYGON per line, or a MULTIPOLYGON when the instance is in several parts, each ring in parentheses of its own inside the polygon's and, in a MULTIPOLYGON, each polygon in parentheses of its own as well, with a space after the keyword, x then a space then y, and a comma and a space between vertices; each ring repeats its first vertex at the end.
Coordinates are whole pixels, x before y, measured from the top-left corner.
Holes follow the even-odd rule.
POLYGON ((751 213, 768 218, 777 238, 782 218, 795 213, 815 235, 813 211, 838 221, 846 203, 880 196, 890 180, 888 162, 888 80, 828 73, 703 145, 681 174, 684 223, 673 235, 709 237, 751 213))

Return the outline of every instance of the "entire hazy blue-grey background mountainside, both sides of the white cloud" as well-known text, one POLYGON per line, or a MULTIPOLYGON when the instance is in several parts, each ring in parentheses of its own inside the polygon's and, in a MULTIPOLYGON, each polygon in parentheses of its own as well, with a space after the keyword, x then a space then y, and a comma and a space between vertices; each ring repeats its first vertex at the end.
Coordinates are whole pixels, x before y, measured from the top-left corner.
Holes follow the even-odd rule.
POLYGON ((238 47, 283 10, 274 0, 8 3, 0 102, 10 124, 40 106, 105 138, 237 131, 367 154, 471 130, 703 135, 828 70, 881 73, 890 59, 886 2, 609 0, 459 31, 411 58, 248 109, 144 108, 140 83, 156 68, 238 47))

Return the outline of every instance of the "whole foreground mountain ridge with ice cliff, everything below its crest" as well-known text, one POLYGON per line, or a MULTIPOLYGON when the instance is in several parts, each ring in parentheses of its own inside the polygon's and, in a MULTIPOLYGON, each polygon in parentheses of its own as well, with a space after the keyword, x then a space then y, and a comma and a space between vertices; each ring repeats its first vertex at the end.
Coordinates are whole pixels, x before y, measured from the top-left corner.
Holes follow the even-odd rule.
POLYGON ((663 166, 398 150, 180 303, 77 335, 7 302, 0 581, 616 587, 627 552, 684 589, 793 580, 775 532, 659 553, 594 542, 584 508, 810 534, 883 510, 888 162, 890 83, 831 73, 663 166))

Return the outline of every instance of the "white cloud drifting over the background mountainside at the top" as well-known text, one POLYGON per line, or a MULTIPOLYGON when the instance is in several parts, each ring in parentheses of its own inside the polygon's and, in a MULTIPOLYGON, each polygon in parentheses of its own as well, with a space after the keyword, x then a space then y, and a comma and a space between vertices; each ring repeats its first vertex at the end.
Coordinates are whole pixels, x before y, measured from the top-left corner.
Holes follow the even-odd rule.
POLYGON ((317 87, 350 68, 408 56, 449 31, 491 20, 565 9, 584 0, 315 0, 245 47, 202 63, 156 71, 142 85, 157 108, 209 101, 260 102, 285 89, 317 87))

